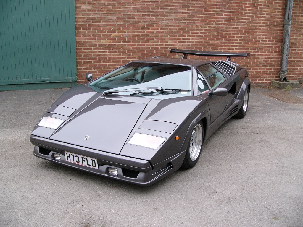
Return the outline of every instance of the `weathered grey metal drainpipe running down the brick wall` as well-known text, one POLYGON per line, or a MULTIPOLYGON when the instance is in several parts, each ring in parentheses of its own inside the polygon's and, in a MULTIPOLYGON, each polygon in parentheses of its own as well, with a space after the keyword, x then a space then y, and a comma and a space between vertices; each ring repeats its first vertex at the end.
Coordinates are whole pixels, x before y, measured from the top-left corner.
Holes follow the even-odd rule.
POLYGON ((284 29, 283 29, 282 59, 281 59, 281 69, 279 72, 280 79, 282 82, 287 81, 286 74, 287 74, 292 3, 293 0, 286 0, 285 18, 283 23, 284 29))

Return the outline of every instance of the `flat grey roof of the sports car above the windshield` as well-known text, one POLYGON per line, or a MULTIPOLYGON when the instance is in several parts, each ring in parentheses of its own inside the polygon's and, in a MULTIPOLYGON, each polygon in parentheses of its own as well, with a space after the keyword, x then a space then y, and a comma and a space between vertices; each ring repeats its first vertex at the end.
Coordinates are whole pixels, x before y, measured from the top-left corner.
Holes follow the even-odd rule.
POLYGON ((198 60, 198 59, 188 59, 188 58, 166 58, 166 57, 154 57, 139 59, 132 62, 152 62, 152 63, 164 63, 164 64, 178 64, 187 66, 198 66, 201 64, 206 64, 211 61, 209 60, 198 60))

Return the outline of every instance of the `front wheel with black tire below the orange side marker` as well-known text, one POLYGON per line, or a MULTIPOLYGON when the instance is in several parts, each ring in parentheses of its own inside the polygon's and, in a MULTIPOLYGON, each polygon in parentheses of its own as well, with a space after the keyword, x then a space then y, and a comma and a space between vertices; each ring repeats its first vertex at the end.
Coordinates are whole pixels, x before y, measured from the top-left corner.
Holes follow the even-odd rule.
POLYGON ((191 132, 185 158, 181 167, 189 169, 197 164, 203 145, 203 133, 203 124, 196 124, 191 132))

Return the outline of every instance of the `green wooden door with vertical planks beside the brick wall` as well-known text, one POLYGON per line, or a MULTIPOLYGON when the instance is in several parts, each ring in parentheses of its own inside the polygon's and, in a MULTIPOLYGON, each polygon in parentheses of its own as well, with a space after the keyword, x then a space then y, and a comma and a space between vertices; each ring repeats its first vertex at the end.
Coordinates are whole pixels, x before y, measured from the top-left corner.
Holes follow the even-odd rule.
POLYGON ((75 1, 0 0, 0 90, 76 81, 75 1))

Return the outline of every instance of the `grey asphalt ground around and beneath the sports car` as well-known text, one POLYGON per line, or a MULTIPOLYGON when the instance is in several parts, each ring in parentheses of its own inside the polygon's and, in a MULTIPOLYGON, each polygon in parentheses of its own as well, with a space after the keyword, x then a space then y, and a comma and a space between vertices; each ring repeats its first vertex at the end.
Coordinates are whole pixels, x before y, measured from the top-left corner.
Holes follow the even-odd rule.
POLYGON ((303 226, 303 105, 253 88, 246 117, 194 168, 142 187, 32 154, 32 129, 65 90, 0 92, 0 226, 303 226))

